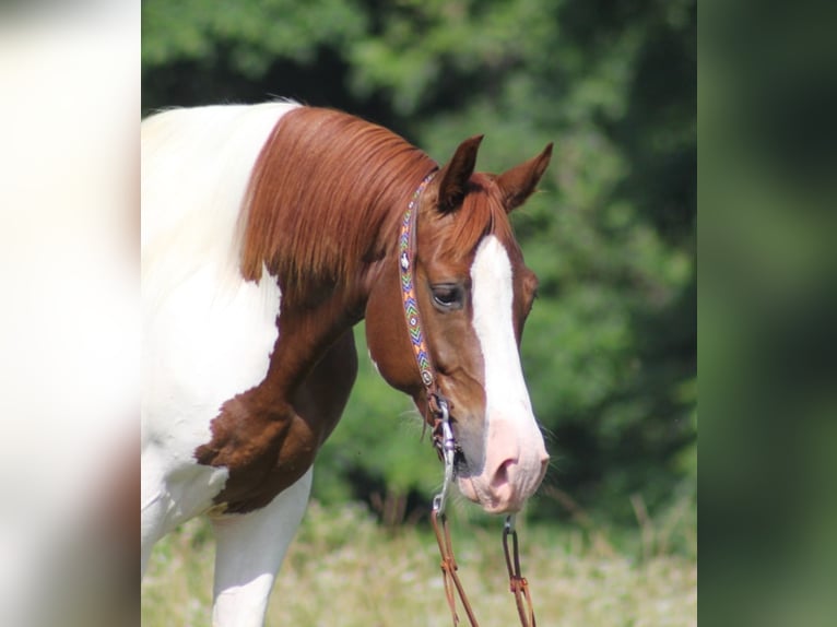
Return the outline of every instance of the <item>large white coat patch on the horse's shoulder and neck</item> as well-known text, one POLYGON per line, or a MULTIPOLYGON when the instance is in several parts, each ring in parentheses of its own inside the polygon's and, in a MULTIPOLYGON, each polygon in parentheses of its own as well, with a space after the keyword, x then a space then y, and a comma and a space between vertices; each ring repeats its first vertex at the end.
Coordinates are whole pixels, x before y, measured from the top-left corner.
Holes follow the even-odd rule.
POLYGON ((142 125, 142 540, 207 511, 227 470, 196 462, 228 399, 261 382, 281 292, 238 273, 250 170, 296 105, 176 109, 142 125))

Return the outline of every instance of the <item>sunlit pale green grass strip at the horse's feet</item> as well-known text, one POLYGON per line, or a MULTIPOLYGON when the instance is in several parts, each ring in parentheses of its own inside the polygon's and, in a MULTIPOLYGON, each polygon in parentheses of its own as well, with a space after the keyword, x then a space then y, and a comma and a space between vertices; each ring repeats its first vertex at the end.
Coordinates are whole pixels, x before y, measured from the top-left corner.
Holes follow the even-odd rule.
MULTIPOLYGON (((650 525, 641 522, 641 533, 625 541, 615 533, 519 523, 538 624, 697 625, 694 552, 669 551, 650 525)), ((492 530, 461 521, 452 527, 460 577, 482 627, 518 624, 500 527, 499 520, 492 530)), ((694 529, 686 534, 694 540, 694 529)), ((143 626, 209 625, 212 570, 213 542, 204 522, 191 521, 161 542, 143 582, 143 626)), ((423 527, 387 531, 356 505, 311 502, 278 577, 267 624, 450 625, 435 539, 423 527)))

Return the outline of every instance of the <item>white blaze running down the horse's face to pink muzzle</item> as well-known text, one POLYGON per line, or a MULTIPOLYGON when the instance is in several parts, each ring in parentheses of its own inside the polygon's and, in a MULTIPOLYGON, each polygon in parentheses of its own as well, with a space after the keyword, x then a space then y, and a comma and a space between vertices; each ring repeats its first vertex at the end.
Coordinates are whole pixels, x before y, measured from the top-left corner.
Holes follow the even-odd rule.
POLYGON ((490 235, 471 267, 473 329, 485 364, 485 464, 460 481, 487 511, 515 511, 534 493, 549 457, 523 381, 512 318, 511 262, 490 235))

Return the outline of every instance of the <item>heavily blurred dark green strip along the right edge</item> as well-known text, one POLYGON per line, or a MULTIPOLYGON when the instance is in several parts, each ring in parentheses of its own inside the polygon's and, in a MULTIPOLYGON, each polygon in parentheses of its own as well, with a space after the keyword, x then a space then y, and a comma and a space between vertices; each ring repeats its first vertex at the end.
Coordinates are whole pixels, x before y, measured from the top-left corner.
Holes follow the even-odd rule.
POLYGON ((707 624, 837 624, 835 24, 822 2, 702 12, 707 624))

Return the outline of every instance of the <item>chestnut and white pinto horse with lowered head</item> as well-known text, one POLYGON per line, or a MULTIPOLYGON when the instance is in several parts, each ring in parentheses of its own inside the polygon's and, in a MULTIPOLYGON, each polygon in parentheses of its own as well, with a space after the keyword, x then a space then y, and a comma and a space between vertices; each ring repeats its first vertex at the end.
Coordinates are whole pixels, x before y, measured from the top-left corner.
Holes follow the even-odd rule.
POLYGON ((508 214, 552 144, 475 173, 479 135, 439 167, 386 128, 285 100, 165 110, 141 138, 142 572, 207 516, 213 625, 263 624, 363 319, 381 377, 424 416, 445 403, 461 494, 522 507, 549 456, 519 356, 538 280, 508 214))

